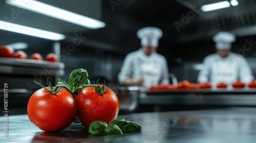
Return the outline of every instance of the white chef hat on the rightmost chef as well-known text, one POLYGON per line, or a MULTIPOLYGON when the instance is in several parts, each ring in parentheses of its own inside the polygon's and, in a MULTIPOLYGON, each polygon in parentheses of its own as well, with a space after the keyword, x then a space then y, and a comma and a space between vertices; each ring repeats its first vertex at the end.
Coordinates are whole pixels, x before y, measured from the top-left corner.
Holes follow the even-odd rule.
POLYGON ((231 48, 231 43, 236 41, 236 37, 231 33, 222 31, 212 37, 212 40, 216 42, 216 49, 225 50, 231 48))

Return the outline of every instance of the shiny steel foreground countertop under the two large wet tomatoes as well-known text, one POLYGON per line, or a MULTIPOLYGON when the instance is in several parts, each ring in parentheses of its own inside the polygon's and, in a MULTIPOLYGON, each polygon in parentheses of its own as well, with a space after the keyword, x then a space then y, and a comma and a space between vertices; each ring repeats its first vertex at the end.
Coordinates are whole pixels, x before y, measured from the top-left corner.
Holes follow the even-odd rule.
MULTIPOLYGON (((90 135, 79 124, 46 133, 27 115, 8 116, 8 139, 1 142, 255 142, 256 108, 151 112, 119 115, 142 126, 141 133, 90 135)), ((5 117, 1 116, 4 121, 5 117)), ((4 128, 4 122, 1 125, 4 128)), ((4 131, 2 130, 4 133, 4 131)))

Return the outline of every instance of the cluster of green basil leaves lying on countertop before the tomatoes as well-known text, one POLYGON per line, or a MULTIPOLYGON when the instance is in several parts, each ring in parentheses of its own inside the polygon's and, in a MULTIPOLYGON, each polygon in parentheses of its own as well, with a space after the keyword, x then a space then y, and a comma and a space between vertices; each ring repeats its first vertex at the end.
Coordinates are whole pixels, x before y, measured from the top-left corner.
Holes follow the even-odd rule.
POLYGON ((116 118, 110 126, 108 126, 104 121, 94 121, 89 125, 88 132, 94 135, 114 135, 114 134, 124 134, 124 133, 135 133, 141 132, 142 128, 139 124, 125 121, 123 118, 116 118))

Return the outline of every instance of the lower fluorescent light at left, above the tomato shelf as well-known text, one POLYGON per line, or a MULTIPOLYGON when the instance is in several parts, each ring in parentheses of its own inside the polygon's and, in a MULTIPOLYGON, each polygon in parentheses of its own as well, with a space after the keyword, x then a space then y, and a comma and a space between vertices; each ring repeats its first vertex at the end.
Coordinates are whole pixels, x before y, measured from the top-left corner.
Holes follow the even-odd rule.
POLYGON ((65 39, 65 35, 62 35, 62 34, 53 33, 53 32, 40 30, 40 29, 35 29, 35 28, 31 28, 31 27, 26 27, 26 26, 22 26, 22 25, 16 25, 14 23, 1 21, 1 20, 0 20, 0 29, 6 30, 6 31, 11 31, 11 32, 16 32, 16 33, 21 33, 21 34, 26 34, 26 35, 30 35, 30 36, 55 40, 55 41, 65 39))

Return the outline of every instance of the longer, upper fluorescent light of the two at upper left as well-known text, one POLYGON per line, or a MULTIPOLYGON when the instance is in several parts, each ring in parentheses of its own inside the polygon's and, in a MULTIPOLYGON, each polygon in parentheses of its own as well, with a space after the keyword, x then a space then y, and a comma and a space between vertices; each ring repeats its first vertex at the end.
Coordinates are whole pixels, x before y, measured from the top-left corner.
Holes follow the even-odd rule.
POLYGON ((105 27, 105 23, 102 21, 34 0, 26 1, 26 4, 22 3, 22 1, 20 0, 7 0, 6 3, 12 6, 51 16, 91 29, 105 27))

